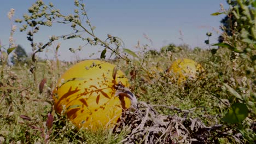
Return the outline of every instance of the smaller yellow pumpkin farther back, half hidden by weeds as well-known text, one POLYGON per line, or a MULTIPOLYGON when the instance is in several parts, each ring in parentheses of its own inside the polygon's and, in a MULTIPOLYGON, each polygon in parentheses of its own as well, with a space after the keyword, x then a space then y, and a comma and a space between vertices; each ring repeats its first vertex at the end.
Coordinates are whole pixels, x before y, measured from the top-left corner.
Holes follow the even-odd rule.
POLYGON ((171 67, 167 69, 167 73, 171 73, 172 76, 177 79, 178 83, 182 83, 189 79, 196 79, 198 74, 203 71, 200 64, 187 58, 177 59, 171 64, 171 67))

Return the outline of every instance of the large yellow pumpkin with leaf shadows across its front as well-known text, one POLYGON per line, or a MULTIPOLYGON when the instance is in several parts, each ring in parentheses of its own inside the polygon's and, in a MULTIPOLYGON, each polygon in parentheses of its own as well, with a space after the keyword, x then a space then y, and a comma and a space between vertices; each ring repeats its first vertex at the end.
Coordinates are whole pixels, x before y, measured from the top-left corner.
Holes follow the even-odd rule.
POLYGON ((115 66, 98 60, 73 65, 53 91, 56 112, 65 112, 78 128, 111 128, 123 110, 131 106, 129 98, 116 95, 115 86, 121 83, 129 87, 129 82, 115 66))

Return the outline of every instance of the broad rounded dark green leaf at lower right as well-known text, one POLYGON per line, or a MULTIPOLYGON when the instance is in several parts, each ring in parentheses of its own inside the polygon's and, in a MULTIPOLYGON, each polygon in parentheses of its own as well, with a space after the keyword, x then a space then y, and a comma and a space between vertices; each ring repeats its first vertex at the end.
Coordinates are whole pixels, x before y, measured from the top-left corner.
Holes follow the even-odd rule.
POLYGON ((248 108, 246 104, 235 103, 233 104, 222 121, 230 124, 240 123, 248 116, 248 108))

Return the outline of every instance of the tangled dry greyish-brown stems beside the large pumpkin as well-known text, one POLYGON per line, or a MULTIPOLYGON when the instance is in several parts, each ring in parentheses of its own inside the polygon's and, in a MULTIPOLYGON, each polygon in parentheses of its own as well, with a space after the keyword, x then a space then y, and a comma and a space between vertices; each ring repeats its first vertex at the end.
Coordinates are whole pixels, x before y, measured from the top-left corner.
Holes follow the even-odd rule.
POLYGON ((222 128, 221 124, 206 127, 199 118, 161 115, 155 106, 184 113, 191 111, 139 102, 138 109, 125 111, 121 117, 117 132, 126 129, 130 133, 119 143, 207 143, 211 131, 222 128))

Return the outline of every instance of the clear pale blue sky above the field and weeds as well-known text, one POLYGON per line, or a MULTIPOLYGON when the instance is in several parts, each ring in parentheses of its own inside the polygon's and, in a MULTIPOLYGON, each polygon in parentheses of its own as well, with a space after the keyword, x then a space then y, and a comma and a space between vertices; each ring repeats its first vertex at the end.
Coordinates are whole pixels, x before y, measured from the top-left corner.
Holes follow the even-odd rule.
MULTIPOLYGON (((35 2, 35 1, 34 1, 35 2)), ((56 8, 64 14, 73 14, 74 4, 72 0, 47 0, 45 3, 53 2, 56 8)), ((0 40, 2 45, 8 45, 10 33, 10 21, 7 13, 11 8, 15 9, 15 18, 22 18, 31 7, 32 1, 10 0, 2 1, 0 4, 0 40)), ((137 41, 142 44, 150 44, 143 34, 153 41, 150 49, 160 50, 164 45, 189 44, 190 47, 199 46, 206 48, 204 41, 207 39, 206 32, 212 32, 211 43, 216 43, 220 32, 219 21, 222 16, 211 16, 220 9, 219 4, 225 0, 91 0, 84 1, 90 21, 96 26, 95 34, 101 39, 107 38, 107 34, 117 36, 125 42, 128 49, 134 50, 137 41), (215 29, 215 30, 214 30, 215 29), (182 33, 183 41, 180 31, 182 33)), ((18 25, 14 23, 14 25, 18 25)), ((20 25, 18 25, 20 26, 20 25)), ((71 32, 69 27, 44 28, 36 35, 36 42, 45 42, 50 35, 61 35, 71 32)), ((31 52, 26 33, 16 31, 14 35, 16 44, 20 44, 27 52, 31 52)), ((77 48, 83 41, 66 41, 61 44, 60 58, 74 60, 74 54, 69 52, 69 47, 77 48)), ((98 52, 97 47, 85 47, 79 53, 80 58, 88 58, 90 53, 98 52)), ((51 50, 51 49, 49 49, 51 50)), ((48 57, 52 57, 49 53, 48 57)), ((99 54, 98 54, 99 55, 99 54)), ((98 56, 96 55, 96 56, 98 56)), ((45 54, 40 54, 45 56, 45 54)))

